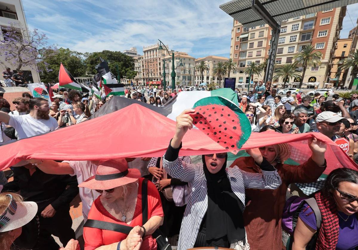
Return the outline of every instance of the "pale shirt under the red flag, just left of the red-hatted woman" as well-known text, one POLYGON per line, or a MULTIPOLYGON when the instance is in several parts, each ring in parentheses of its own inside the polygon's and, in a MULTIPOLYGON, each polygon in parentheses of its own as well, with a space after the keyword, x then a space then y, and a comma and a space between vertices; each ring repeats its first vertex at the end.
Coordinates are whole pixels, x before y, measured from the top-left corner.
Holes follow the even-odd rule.
MULTIPOLYGON (((96 175, 97 165, 91 161, 62 161, 67 162, 72 167, 74 174, 71 176, 77 176, 78 184, 87 180, 89 177, 96 175)), ((82 200, 82 214, 83 218, 87 220, 88 212, 91 209, 93 201, 100 196, 100 193, 96 190, 89 189, 87 187, 79 187, 79 197, 82 200)))

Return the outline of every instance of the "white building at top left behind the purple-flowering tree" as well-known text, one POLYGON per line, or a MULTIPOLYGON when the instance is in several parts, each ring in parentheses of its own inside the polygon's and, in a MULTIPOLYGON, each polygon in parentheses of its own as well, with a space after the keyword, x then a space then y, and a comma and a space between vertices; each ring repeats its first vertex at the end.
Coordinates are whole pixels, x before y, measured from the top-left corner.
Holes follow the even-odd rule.
MULTIPOLYGON (((13 23, 18 28, 19 39, 29 39, 29 30, 26 22, 24 6, 21 0, 0 0, 0 40, 4 40, 3 34, 6 33, 5 28, 13 23)), ((5 70, 6 67, 10 67, 11 70, 16 72, 14 66, 5 61, 4 57, 0 56, 0 69, 5 70)), ((26 81, 40 82, 40 76, 37 71, 37 66, 23 66, 21 70, 24 71, 24 78, 26 81)), ((0 76, 1 80, 3 76, 0 76)))

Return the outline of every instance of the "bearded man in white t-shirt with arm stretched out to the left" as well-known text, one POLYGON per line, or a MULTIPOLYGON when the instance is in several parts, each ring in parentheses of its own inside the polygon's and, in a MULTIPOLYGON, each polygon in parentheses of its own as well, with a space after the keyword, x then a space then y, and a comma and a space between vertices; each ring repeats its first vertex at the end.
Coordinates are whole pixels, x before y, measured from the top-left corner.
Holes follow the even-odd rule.
POLYGON ((19 139, 44 134, 57 129, 55 118, 49 116, 50 107, 48 101, 35 97, 30 99, 30 113, 27 115, 12 115, 0 111, 0 121, 14 127, 19 139))

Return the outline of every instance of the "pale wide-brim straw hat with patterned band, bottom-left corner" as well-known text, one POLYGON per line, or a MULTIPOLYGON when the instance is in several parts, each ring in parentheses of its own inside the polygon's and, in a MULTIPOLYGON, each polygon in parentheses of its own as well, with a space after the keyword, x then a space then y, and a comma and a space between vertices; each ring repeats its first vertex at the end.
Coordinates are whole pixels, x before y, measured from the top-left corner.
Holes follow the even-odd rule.
MULTIPOLYGON (((7 194, 10 195, 10 194, 7 194)), ((37 204, 33 201, 16 202, 12 195, 8 208, 0 214, 0 233, 28 224, 37 213, 37 204)))

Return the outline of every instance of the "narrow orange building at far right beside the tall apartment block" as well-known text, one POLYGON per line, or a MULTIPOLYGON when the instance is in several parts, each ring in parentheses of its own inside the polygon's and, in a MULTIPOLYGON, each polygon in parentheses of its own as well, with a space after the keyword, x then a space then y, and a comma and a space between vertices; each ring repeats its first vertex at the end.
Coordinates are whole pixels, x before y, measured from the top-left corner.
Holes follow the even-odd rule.
MULTIPOLYGON (((330 61, 330 77, 328 87, 334 86, 343 87, 344 80, 347 78, 348 70, 338 73, 338 62, 349 56, 350 48, 352 47, 353 39, 339 39, 335 45, 334 55, 330 61)), ((325 86, 326 87, 326 86, 325 86)))

